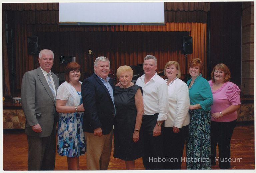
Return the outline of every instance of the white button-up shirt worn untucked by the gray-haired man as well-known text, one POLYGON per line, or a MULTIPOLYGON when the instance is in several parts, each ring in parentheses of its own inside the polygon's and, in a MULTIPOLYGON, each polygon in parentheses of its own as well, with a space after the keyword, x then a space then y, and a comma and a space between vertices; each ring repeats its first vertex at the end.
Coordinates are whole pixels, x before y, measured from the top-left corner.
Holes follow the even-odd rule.
POLYGON ((168 112, 168 87, 163 78, 155 75, 145 84, 145 74, 139 77, 136 84, 143 90, 143 115, 154 115, 159 113, 157 120, 167 119, 168 112))

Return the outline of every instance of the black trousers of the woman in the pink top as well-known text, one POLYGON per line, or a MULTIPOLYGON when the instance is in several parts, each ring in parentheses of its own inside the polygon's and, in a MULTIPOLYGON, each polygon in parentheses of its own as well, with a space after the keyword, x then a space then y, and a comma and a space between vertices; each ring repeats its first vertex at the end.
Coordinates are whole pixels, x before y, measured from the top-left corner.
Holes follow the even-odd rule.
POLYGON ((236 126, 236 120, 231 122, 211 122, 211 161, 216 165, 219 161, 220 169, 229 169, 230 162, 230 140, 233 130, 236 126), (216 146, 219 147, 219 158, 216 158, 216 146))

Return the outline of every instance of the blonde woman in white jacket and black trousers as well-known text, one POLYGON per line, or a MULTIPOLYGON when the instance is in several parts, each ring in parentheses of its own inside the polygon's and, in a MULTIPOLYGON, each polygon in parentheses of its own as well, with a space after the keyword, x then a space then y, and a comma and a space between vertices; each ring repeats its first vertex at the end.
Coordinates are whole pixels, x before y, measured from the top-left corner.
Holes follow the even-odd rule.
POLYGON ((165 81, 169 96, 169 111, 163 126, 164 158, 170 160, 164 162, 164 169, 181 169, 181 158, 190 122, 188 86, 179 79, 181 72, 178 62, 167 62, 164 74, 167 76, 165 81))

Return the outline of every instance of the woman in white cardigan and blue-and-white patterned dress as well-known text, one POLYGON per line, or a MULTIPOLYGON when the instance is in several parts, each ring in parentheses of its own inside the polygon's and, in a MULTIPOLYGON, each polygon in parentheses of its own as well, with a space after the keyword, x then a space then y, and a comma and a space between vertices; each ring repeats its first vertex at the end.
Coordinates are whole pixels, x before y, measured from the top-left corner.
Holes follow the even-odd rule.
POLYGON ((80 77, 80 65, 68 63, 66 81, 59 86, 56 96, 56 110, 60 113, 57 148, 60 156, 67 157, 68 170, 79 170, 79 156, 86 151, 80 77))

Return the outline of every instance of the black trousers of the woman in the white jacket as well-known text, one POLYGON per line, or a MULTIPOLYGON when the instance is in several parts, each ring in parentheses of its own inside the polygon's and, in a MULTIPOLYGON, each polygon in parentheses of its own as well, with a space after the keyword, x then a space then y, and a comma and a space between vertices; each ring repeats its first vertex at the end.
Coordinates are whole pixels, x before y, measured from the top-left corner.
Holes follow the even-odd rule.
POLYGON ((181 158, 188 135, 188 128, 189 125, 186 125, 180 129, 179 133, 174 133, 172 127, 162 127, 164 158, 171 159, 168 162, 163 162, 163 169, 181 169, 181 158))

